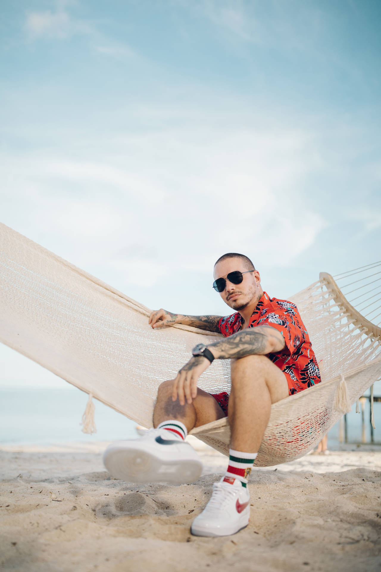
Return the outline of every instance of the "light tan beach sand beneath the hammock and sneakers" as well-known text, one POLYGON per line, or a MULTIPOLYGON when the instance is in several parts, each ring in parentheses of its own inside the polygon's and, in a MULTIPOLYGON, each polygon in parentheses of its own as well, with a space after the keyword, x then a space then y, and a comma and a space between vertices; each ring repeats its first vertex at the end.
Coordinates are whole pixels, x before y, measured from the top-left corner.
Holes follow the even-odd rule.
POLYGON ((196 439, 194 484, 110 478, 106 443, 2 446, 3 571, 381 570, 381 450, 307 455, 252 472, 249 526, 231 537, 190 534, 223 455, 196 439))

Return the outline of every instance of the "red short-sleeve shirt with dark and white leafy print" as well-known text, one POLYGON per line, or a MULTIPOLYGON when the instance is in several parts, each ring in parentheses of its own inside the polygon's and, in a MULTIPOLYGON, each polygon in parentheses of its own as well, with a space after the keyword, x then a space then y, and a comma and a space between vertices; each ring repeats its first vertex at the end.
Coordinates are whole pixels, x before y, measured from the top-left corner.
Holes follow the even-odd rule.
MULTIPOLYGON (((225 337, 242 328, 239 312, 224 316, 218 327, 225 337)), ((288 390, 293 395, 320 382, 320 372, 310 337, 295 304, 287 300, 268 297, 264 292, 250 317, 248 328, 270 325, 282 333, 286 343, 282 351, 268 353, 267 357, 286 375, 288 390)))

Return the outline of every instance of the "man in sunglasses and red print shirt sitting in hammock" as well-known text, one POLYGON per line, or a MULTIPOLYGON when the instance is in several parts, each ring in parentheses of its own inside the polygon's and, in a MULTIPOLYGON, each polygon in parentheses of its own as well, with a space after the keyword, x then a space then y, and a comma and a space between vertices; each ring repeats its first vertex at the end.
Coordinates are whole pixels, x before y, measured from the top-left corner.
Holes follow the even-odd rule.
POLYGON ((230 316, 182 316, 152 312, 153 328, 186 324, 225 339, 198 344, 175 380, 161 384, 154 410, 155 429, 140 439, 115 443, 104 456, 111 474, 130 482, 186 483, 202 463, 184 440, 193 427, 227 416, 231 427, 226 474, 214 483, 204 511, 191 532, 200 536, 234 534, 248 524, 248 476, 270 418, 271 404, 320 382, 318 364, 295 304, 269 298, 247 256, 227 253, 214 266, 213 287, 235 310, 230 316), (231 393, 210 395, 197 387, 214 359, 231 360, 231 393))

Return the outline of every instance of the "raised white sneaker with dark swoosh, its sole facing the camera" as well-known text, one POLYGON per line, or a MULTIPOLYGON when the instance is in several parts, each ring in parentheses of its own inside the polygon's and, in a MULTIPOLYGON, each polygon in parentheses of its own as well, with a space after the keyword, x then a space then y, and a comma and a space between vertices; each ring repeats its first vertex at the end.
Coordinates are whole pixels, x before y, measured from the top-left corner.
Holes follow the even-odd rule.
POLYGON ((166 429, 151 429, 139 439, 107 447, 103 463, 117 479, 131 483, 192 483, 202 473, 202 462, 189 443, 168 439, 166 429))

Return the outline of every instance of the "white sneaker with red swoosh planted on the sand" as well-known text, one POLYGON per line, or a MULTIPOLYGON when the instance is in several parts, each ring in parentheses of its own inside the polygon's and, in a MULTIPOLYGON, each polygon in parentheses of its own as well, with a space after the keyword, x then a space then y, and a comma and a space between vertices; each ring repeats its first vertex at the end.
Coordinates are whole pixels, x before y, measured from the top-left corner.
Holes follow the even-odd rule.
POLYGON ((222 477, 213 484, 210 501, 191 526, 195 536, 228 536, 248 525, 250 494, 240 480, 222 477))

